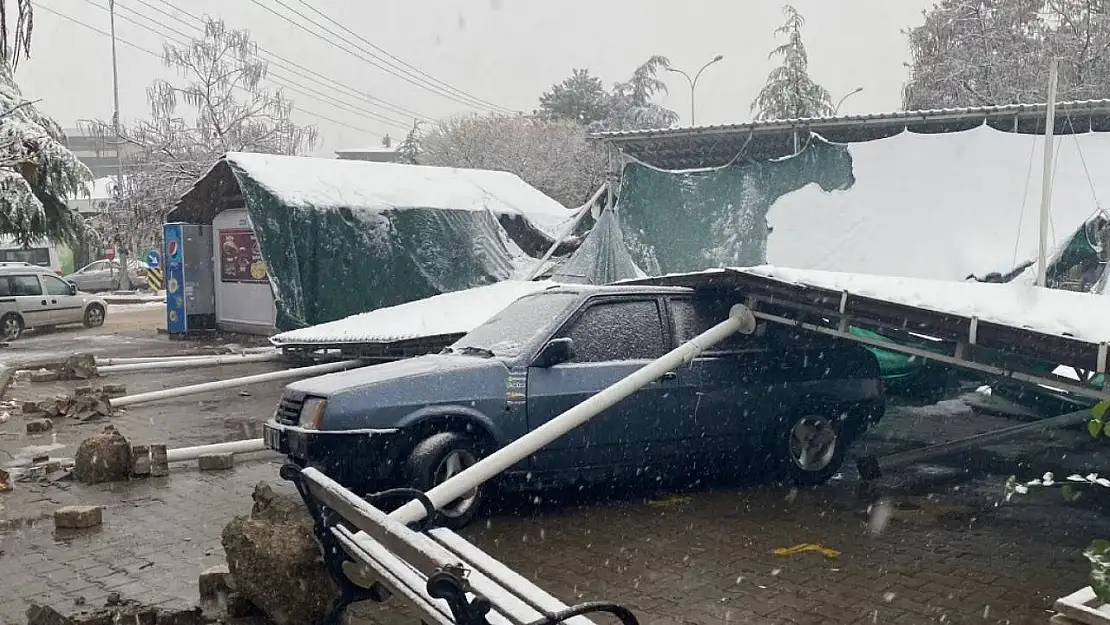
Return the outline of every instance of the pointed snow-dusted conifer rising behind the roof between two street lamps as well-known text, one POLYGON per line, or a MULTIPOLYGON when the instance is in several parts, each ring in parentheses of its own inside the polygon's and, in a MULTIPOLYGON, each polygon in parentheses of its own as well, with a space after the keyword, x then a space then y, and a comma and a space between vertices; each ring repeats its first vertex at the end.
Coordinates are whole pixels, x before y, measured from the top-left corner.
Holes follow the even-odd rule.
POLYGON ((809 58, 801 42, 801 28, 806 20, 787 4, 783 7, 786 22, 775 29, 775 34, 784 34, 786 43, 771 50, 768 58, 776 57, 783 64, 767 75, 767 84, 751 102, 756 119, 803 119, 833 114, 829 92, 809 78, 809 58))

